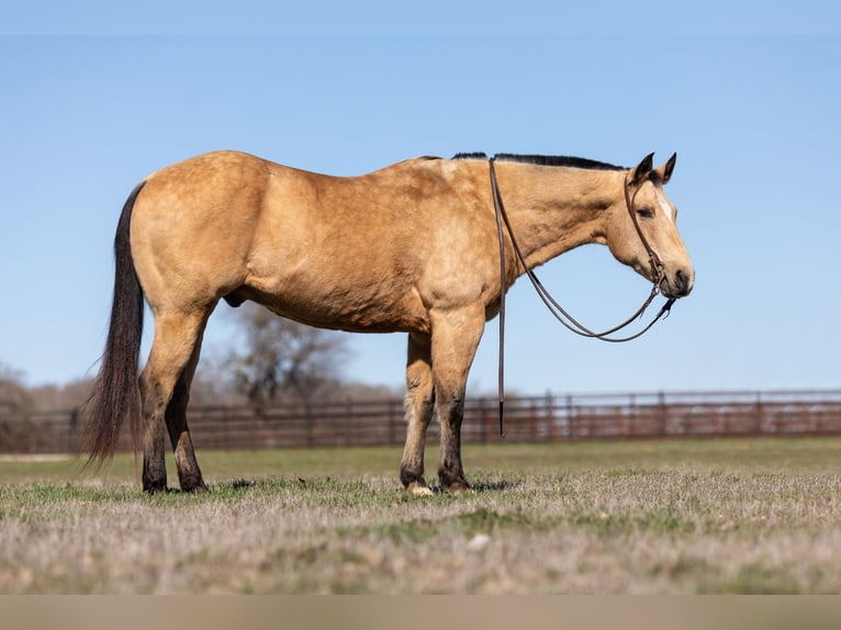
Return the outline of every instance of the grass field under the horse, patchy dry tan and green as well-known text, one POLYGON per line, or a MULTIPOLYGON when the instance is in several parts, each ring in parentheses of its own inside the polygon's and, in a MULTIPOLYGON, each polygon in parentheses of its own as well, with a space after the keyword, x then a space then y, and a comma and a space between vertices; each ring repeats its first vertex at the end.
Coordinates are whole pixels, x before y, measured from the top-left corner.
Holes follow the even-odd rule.
POLYGON ((841 592, 841 438, 464 451, 475 492, 426 498, 395 448, 208 451, 197 496, 7 458, 0 593, 841 592))

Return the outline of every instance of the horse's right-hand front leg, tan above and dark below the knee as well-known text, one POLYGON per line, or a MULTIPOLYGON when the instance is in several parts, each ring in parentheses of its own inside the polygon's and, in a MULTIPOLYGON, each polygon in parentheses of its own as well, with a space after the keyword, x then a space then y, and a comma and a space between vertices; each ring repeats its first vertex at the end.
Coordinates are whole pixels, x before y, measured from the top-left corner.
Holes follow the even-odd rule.
POLYGON ((441 426, 438 480, 448 492, 470 490, 461 465, 461 421, 468 372, 483 331, 481 304, 433 314, 433 382, 441 426))

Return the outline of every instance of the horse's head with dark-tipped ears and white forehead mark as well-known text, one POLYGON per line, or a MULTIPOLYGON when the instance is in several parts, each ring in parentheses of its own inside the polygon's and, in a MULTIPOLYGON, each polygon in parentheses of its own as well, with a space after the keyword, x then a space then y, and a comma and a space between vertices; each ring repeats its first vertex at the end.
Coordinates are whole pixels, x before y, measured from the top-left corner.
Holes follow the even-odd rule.
POLYGON ((683 297, 695 284, 695 271, 677 233, 677 209, 663 192, 677 155, 657 169, 653 155, 627 171, 625 199, 610 211, 607 246, 617 260, 659 282, 663 295, 683 297))

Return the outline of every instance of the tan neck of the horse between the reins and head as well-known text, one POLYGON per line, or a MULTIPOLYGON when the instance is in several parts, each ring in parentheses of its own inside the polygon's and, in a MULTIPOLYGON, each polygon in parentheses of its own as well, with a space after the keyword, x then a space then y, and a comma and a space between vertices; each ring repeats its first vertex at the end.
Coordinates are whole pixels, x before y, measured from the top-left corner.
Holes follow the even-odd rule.
POLYGON ((621 202, 624 171, 500 166, 508 176, 501 177, 500 191, 529 267, 604 243, 607 210, 621 202))

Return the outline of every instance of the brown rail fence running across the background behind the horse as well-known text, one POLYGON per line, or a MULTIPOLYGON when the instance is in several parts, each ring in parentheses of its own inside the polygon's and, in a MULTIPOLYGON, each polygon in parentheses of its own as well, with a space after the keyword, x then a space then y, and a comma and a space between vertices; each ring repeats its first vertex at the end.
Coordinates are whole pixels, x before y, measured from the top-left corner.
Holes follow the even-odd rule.
MULTIPOLYGON (((657 437, 841 435, 841 390, 654 392, 511 397, 505 438, 495 398, 469 401, 464 442, 571 441, 657 437)), ((83 421, 78 410, 0 409, 0 453, 75 453, 83 421)), ((278 405, 190 409, 199 449, 402 445, 402 401, 345 401, 309 408, 278 405)), ((429 427, 436 439, 437 423, 429 427)), ((121 448, 130 448, 123 436, 121 448)))

